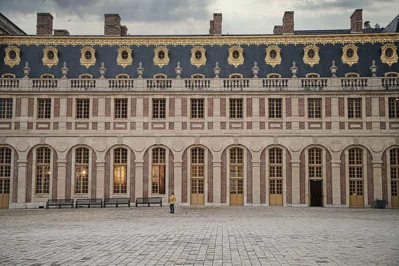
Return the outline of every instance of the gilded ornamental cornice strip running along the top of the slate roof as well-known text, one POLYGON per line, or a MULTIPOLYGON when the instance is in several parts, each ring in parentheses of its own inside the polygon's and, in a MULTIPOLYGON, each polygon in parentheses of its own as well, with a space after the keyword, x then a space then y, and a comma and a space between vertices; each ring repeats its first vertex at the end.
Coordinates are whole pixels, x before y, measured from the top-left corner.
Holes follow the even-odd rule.
POLYGON ((325 45, 399 42, 399 33, 259 35, 259 36, 0 36, 2 45, 45 46, 232 46, 232 45, 325 45))

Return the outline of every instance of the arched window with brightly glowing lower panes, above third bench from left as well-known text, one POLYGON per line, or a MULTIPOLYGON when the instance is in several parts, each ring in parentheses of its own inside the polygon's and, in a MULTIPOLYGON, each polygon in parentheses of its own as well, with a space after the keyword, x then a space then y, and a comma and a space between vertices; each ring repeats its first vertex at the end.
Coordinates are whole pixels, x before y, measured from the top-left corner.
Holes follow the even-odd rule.
POLYGON ((113 193, 126 193, 127 150, 116 148, 113 150, 113 193))

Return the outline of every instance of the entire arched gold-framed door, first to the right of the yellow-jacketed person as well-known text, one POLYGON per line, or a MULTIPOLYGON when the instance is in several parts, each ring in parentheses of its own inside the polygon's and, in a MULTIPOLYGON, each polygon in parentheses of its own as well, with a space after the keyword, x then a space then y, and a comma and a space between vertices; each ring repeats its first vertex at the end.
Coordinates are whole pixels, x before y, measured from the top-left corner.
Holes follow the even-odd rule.
POLYGON ((191 149, 191 205, 203 205, 204 197, 204 150, 202 148, 191 149))

